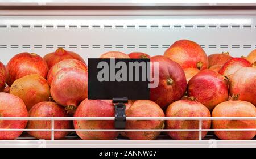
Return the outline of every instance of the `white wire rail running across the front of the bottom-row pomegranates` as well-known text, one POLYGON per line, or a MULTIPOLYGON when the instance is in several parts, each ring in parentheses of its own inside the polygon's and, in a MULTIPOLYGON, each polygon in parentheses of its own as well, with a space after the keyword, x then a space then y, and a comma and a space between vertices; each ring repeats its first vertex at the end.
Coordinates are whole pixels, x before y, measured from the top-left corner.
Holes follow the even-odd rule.
POLYGON ((127 121, 130 120, 193 120, 199 121, 198 129, 55 129, 54 121, 73 121, 73 120, 102 120, 109 121, 114 120, 114 117, 0 117, 1 120, 46 120, 51 121, 51 129, 19 129, 19 128, 0 128, 0 131, 51 131, 51 140, 54 140, 54 132, 55 131, 90 131, 90 132, 143 132, 143 131, 155 131, 155 132, 169 132, 169 131, 194 131, 199 132, 199 141, 202 140, 202 132, 203 131, 256 131, 255 128, 230 128, 230 129, 203 129, 202 121, 205 120, 256 120, 256 117, 126 117, 127 121))

